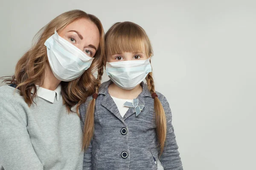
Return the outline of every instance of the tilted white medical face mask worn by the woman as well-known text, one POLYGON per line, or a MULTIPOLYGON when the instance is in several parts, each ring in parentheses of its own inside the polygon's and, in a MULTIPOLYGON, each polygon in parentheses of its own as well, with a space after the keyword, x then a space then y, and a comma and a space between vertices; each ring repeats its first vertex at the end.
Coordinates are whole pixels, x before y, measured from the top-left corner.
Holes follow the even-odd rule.
POLYGON ((56 30, 44 45, 47 46, 47 56, 52 72, 60 81, 79 78, 93 62, 93 58, 60 37, 56 30))

